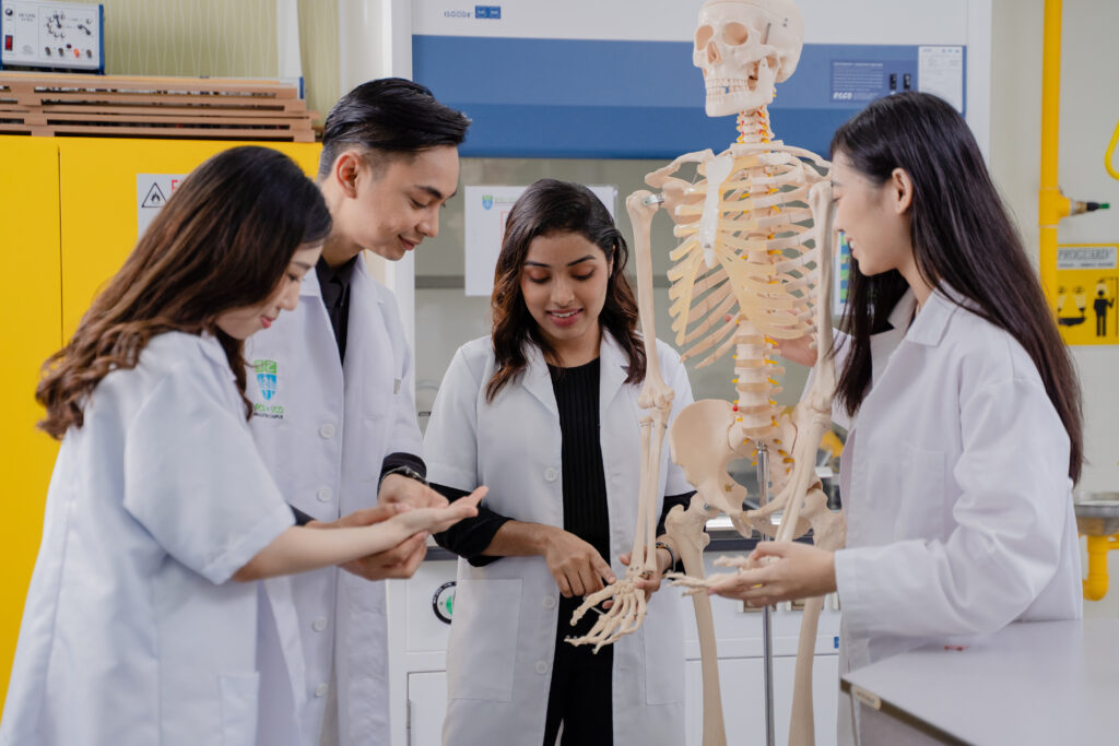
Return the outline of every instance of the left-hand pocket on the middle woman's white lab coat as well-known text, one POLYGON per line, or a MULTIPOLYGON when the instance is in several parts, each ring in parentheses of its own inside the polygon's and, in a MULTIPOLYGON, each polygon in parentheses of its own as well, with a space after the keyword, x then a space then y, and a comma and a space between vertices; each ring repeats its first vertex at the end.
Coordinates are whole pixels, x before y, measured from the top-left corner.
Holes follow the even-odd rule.
POLYGON ((459 578, 446 646, 450 699, 513 701, 520 578, 459 578))

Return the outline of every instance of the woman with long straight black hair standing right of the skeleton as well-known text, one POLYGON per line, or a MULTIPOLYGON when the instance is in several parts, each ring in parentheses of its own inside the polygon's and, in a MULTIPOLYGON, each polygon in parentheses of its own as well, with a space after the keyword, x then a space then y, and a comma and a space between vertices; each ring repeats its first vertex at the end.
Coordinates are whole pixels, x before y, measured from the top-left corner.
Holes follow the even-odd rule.
POLYGON ((1079 618, 1080 390, 970 130, 935 96, 896 94, 839 128, 831 155, 853 257, 836 397, 847 548, 760 545, 775 560, 713 591, 838 589, 844 671, 1079 618))

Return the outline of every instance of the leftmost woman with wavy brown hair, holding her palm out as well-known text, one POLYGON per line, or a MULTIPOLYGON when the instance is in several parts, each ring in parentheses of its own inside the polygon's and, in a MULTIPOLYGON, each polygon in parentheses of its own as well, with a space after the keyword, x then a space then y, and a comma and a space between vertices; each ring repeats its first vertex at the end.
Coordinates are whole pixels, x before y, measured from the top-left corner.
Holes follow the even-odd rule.
POLYGON ((330 214, 288 157, 191 172, 51 356, 62 440, 0 742, 255 743, 253 580, 347 561, 474 513, 292 527, 248 431, 244 340, 295 308, 330 214))

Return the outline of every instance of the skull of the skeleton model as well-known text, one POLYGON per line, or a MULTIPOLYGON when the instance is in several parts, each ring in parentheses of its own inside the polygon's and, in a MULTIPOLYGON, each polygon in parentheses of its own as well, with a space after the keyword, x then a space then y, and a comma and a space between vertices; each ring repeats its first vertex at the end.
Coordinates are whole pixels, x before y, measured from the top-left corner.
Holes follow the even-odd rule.
POLYGON ((707 0, 692 59, 707 84, 707 116, 752 112, 800 59, 803 22, 790 0, 707 0))

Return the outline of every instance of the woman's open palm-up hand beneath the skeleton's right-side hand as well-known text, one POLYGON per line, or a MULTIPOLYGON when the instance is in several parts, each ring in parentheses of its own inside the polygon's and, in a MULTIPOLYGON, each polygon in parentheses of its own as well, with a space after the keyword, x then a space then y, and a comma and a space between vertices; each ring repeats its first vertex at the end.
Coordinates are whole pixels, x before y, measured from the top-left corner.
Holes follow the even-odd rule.
POLYGON ((835 553, 797 541, 763 541, 750 553, 760 564, 714 584, 708 593, 751 606, 822 596, 836 589, 835 553))

